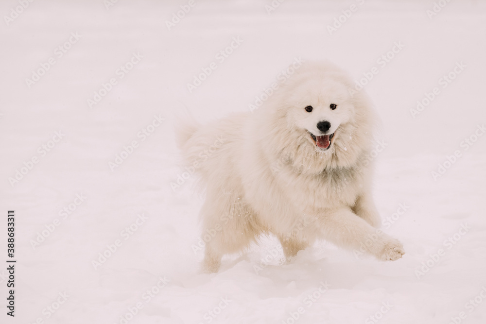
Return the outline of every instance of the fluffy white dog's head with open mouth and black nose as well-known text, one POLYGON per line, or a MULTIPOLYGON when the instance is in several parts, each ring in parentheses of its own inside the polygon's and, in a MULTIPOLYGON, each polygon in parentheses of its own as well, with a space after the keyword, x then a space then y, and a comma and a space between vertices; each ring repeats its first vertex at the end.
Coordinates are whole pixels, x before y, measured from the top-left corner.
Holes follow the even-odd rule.
POLYGON ((330 63, 304 63, 268 104, 271 145, 299 172, 350 167, 369 150, 374 134, 370 100, 330 63))

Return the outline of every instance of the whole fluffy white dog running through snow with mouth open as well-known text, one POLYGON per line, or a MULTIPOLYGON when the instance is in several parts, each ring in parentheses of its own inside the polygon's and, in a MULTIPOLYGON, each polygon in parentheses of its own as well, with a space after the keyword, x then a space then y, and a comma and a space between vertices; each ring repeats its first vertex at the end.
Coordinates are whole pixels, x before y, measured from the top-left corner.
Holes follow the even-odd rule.
POLYGON ((353 86, 330 63, 304 63, 254 113, 180 127, 184 158, 206 187, 206 271, 266 233, 287 259, 316 239, 380 260, 404 254, 397 239, 376 234, 366 159, 375 118, 353 86))

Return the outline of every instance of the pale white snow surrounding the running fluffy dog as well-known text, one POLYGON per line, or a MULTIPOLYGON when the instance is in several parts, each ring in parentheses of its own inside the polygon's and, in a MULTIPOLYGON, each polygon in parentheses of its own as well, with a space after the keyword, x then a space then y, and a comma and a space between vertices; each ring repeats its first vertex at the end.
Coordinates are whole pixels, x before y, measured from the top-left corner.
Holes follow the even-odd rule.
POLYGON ((15 318, 0 267, 0 323, 485 323, 484 1, 431 16, 432 0, 287 0, 270 13, 270 0, 195 0, 170 30, 192 1, 107 1, 0 4, 0 231, 15 209, 17 259, 15 318), (171 188, 184 171, 174 115, 248 110, 299 57, 356 80, 378 71, 365 85, 383 124, 374 194, 406 255, 383 263, 319 242, 285 264, 262 238, 201 274, 203 200, 192 177, 171 188))

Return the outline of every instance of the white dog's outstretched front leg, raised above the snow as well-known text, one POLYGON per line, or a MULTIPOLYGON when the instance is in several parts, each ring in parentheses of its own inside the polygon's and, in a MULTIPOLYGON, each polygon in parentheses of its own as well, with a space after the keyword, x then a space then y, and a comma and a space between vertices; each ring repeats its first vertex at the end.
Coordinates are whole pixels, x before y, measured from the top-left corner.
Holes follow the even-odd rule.
POLYGON ((399 240, 372 227, 348 208, 330 211, 320 220, 324 239, 338 246, 368 252, 383 261, 405 254, 399 240))

